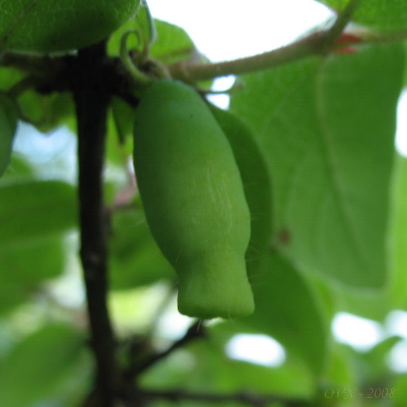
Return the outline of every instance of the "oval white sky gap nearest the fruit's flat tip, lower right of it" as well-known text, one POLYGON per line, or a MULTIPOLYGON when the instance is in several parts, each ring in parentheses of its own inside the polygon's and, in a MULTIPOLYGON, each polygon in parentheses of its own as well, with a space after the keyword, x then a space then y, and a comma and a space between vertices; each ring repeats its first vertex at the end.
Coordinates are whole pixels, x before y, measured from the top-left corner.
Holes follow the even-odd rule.
POLYGON ((226 354, 231 359, 272 367, 285 361, 284 348, 267 335, 236 335, 227 343, 226 354))

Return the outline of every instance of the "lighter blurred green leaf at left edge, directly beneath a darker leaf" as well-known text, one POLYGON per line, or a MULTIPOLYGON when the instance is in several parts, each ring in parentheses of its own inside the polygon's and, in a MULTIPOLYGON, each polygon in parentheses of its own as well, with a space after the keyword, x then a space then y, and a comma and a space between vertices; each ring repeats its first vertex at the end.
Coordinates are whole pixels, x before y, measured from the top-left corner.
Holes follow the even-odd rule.
POLYGON ((62 237, 0 250, 0 314, 26 301, 43 280, 59 276, 65 265, 62 237))

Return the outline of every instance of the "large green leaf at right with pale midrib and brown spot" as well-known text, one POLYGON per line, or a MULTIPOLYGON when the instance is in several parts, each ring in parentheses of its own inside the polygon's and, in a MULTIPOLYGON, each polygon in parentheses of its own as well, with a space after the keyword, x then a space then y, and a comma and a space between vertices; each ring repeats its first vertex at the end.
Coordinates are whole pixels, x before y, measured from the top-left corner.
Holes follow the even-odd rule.
POLYGON ((231 98, 268 155, 280 249, 347 284, 385 282, 402 71, 381 44, 247 75, 231 98))

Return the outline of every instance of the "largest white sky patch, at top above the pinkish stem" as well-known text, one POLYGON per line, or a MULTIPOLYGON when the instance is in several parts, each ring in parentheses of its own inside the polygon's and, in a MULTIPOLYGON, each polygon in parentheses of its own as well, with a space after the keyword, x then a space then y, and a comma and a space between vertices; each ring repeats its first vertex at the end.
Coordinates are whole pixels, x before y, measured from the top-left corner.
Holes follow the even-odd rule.
POLYGON ((185 28, 211 61, 278 48, 332 16, 313 0, 149 0, 149 7, 154 17, 185 28))

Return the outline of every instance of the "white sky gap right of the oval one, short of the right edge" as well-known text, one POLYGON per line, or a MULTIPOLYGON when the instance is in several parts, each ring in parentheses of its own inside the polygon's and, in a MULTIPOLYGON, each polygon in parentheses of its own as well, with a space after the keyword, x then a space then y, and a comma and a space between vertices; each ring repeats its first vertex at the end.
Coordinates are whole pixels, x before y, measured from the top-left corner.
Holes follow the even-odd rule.
POLYGON ((339 312, 335 315, 332 331, 338 342, 351 345, 362 352, 369 351, 384 336, 379 323, 345 312, 339 312))

